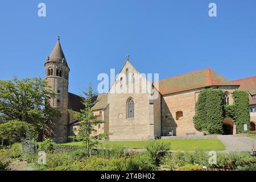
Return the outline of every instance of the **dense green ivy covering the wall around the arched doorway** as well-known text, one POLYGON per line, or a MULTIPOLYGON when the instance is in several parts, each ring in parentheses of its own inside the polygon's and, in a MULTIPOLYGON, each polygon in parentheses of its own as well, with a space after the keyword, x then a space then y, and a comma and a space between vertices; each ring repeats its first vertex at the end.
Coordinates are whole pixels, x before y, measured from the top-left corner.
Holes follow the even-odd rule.
POLYGON ((249 97, 247 92, 235 90, 234 104, 223 103, 224 92, 221 89, 205 89, 196 102, 196 115, 193 118, 195 128, 204 133, 223 133, 222 123, 225 117, 231 117, 237 126, 237 133, 243 131, 246 124, 250 129, 249 97))

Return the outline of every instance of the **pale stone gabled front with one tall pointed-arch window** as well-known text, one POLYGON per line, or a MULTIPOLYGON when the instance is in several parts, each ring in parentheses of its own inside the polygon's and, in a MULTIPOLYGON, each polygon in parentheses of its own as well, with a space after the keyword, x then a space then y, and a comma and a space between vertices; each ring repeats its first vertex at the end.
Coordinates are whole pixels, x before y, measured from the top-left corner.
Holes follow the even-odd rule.
MULTIPOLYGON (((121 74, 117 76, 112 88, 108 93, 109 104, 109 132, 110 140, 144 140, 149 138, 160 137, 160 98, 150 101, 148 93, 142 92, 142 82, 147 82, 142 77, 141 81, 130 80, 133 89, 139 88, 139 93, 116 93, 118 84, 123 78, 126 80, 126 71, 130 75, 138 75, 137 69, 126 61, 121 70, 121 74), (132 83, 131 83, 132 82, 132 83), (134 101, 134 117, 127 117, 127 101, 132 98, 134 101)), ((136 78, 135 78, 136 79, 136 78)), ((127 84, 126 81, 123 84, 127 84)), ((148 83, 150 84, 150 83, 148 83)), ((128 85, 128 84, 127 84, 128 85)), ((129 85, 130 86, 130 85, 129 85)), ((160 97, 160 96, 159 96, 160 97)))

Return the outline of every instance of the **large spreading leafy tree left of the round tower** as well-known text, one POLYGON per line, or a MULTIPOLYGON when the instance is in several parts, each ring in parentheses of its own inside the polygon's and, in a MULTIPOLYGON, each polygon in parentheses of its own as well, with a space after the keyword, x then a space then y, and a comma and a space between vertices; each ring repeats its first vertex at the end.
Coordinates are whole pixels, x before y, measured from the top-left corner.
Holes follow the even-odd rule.
POLYGON ((60 117, 60 111, 49 105, 54 97, 42 78, 0 80, 0 122, 17 119, 42 130, 44 123, 60 117))

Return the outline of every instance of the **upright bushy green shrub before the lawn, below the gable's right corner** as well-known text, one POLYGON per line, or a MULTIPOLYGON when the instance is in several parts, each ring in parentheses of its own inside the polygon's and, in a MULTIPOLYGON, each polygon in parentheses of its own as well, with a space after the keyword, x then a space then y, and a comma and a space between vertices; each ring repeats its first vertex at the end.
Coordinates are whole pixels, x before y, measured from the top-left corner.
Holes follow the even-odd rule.
POLYGON ((147 152, 150 158, 155 164, 160 162, 161 156, 163 156, 167 150, 170 149, 170 143, 164 143, 159 140, 151 140, 146 146, 147 152))

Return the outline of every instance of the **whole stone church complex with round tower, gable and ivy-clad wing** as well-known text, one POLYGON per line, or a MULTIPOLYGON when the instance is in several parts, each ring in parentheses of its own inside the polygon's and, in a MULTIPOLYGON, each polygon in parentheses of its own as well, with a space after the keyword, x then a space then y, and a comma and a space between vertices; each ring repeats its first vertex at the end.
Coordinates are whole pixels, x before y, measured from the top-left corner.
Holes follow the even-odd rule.
MULTIPOLYGON (((57 40, 51 55, 47 56, 46 81, 56 93, 50 101, 51 106, 61 111, 62 117, 46 127, 46 137, 55 142, 67 142, 68 136, 76 135, 74 131, 82 121, 76 121, 68 109, 83 109, 81 97, 68 92, 69 71, 67 60, 57 40)), ((99 94, 93 106, 94 114, 105 121, 97 125, 97 135, 110 133, 109 140, 145 140, 162 136, 203 135, 193 125, 195 105, 203 89, 220 88, 225 92, 225 104, 232 105, 232 93, 236 89, 246 90, 250 98, 251 130, 256 123, 256 76, 241 80, 228 80, 212 69, 186 73, 150 82, 146 77, 134 77, 139 71, 127 57, 119 75, 108 93, 99 94), (129 74, 128 74, 129 73, 129 74), (128 76, 129 75, 129 76, 128 76), (131 75, 131 76, 130 76, 131 75), (150 85, 150 94, 141 92, 142 82, 150 85), (156 86, 158 85, 158 86, 156 86), (115 92, 117 88, 139 90, 139 92, 115 92), (155 97, 152 99, 152 94, 155 97)), ((226 134, 236 134, 232 118, 223 122, 226 134)))

